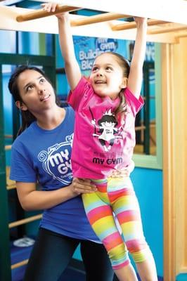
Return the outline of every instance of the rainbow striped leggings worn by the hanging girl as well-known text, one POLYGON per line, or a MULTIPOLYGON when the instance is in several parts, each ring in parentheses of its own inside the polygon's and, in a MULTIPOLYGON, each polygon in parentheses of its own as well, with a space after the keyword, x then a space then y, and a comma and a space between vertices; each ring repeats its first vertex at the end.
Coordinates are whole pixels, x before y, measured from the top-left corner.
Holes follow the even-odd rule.
POLYGON ((129 264, 128 251, 135 263, 148 259, 150 249, 143 235, 138 200, 131 179, 93 180, 98 191, 82 195, 84 209, 93 230, 108 251, 113 269, 129 264), (117 228, 120 223, 122 234, 117 228))

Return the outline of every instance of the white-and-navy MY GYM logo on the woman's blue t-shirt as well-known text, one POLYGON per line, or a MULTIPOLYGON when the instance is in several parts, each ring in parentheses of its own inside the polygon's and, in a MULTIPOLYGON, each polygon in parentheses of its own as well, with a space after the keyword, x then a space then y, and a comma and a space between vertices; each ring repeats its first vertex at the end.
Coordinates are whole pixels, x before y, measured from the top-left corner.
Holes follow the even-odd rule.
POLYGON ((66 136, 65 142, 56 143, 48 148, 47 151, 39 152, 38 159, 43 162, 44 170, 54 179, 64 184, 69 184, 72 181, 72 166, 70 159, 70 151, 72 147, 71 136, 66 136))

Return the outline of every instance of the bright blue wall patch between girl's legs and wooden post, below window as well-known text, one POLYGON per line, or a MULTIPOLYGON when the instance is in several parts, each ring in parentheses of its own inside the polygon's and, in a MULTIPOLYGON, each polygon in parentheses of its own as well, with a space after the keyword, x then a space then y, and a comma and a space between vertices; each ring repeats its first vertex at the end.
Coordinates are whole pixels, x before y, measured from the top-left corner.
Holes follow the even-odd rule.
POLYGON ((162 171, 136 168, 131 176, 146 240, 153 252, 157 273, 163 276, 163 198, 162 171))

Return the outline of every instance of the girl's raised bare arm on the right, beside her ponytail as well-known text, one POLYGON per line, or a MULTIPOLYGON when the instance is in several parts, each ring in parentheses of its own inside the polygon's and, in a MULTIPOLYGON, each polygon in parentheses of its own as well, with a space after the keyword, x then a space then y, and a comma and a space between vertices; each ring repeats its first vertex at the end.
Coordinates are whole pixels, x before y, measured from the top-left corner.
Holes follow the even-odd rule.
POLYGON ((143 61, 146 54, 147 19, 135 17, 134 20, 137 31, 127 87, 138 98, 141 93, 143 61))

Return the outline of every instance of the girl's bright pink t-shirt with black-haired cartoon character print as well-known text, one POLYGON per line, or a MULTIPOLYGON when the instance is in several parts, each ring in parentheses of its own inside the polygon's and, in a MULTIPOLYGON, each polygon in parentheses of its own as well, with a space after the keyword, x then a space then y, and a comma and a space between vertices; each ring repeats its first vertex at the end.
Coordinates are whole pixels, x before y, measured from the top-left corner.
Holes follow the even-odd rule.
POLYGON ((143 106, 138 99, 124 90, 127 114, 124 118, 114 115, 120 98, 111 100, 94 93, 84 77, 68 103, 75 110, 75 133, 72 145, 72 171, 77 178, 106 178, 114 169, 124 169, 131 164, 135 146, 135 117, 143 106))

